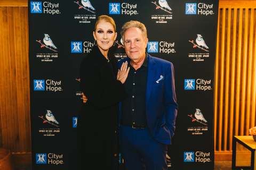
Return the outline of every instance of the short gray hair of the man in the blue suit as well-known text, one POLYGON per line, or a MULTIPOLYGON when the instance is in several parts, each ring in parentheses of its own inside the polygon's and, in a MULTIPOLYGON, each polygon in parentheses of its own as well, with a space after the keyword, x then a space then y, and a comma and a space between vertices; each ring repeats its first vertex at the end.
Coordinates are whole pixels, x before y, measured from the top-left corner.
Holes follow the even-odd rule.
POLYGON ((139 28, 142 31, 142 36, 144 38, 144 40, 147 39, 147 29, 145 27, 145 25, 139 21, 129 21, 129 22, 125 22, 120 33, 121 33, 121 37, 124 40, 124 33, 127 29, 129 28, 139 28))

